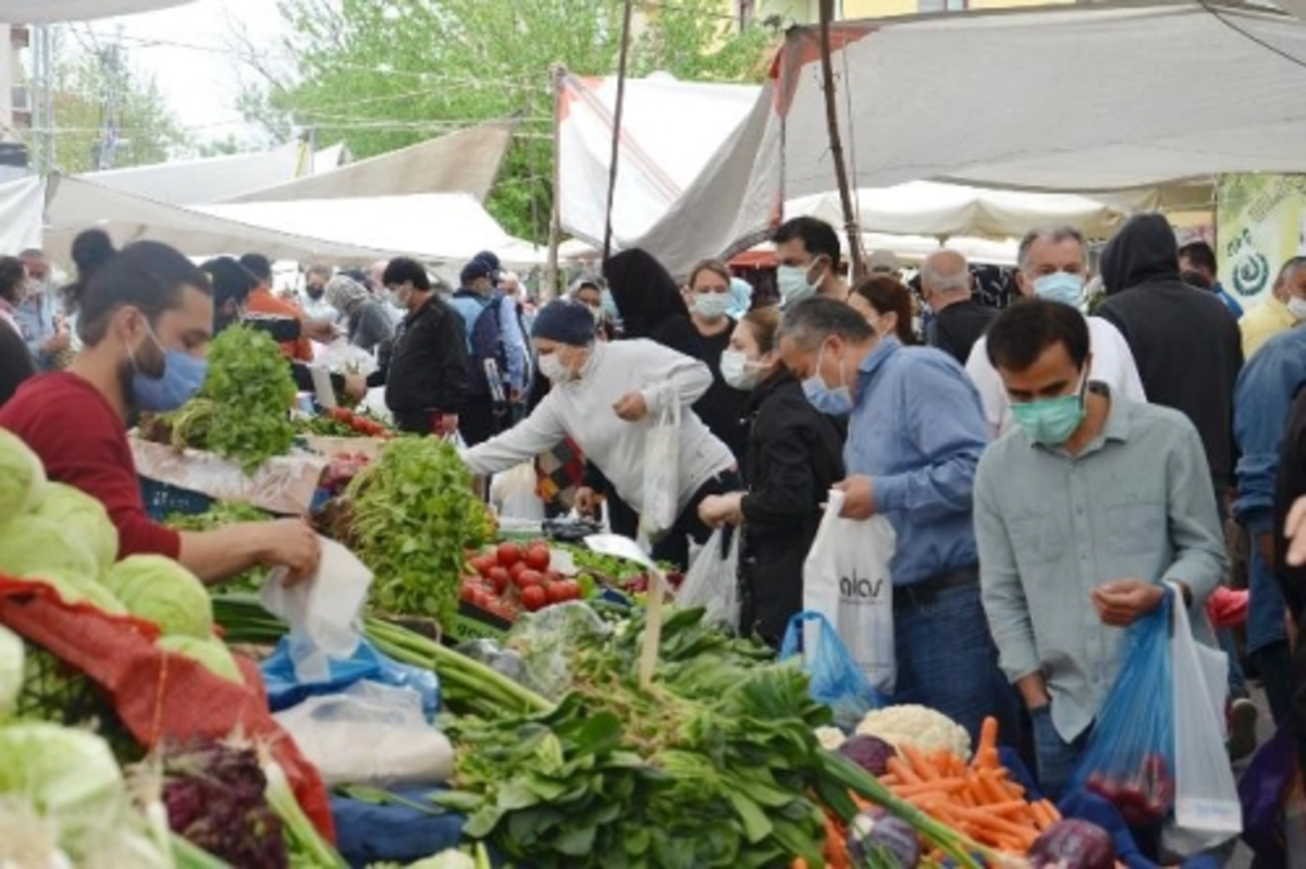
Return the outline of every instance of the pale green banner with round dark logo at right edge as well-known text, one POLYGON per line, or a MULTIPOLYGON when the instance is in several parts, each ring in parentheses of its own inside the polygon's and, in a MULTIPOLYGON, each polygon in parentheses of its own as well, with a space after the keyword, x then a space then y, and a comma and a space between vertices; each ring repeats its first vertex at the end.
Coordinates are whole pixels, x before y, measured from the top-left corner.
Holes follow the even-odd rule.
POLYGON ((1246 308, 1285 261, 1306 254, 1306 175, 1221 175, 1216 182, 1220 282, 1246 308))

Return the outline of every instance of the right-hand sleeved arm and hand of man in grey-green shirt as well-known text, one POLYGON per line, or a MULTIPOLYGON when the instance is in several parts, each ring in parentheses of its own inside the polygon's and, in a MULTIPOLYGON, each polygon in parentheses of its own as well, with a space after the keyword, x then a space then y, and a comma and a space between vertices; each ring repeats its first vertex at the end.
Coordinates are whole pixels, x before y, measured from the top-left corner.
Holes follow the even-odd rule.
POLYGON ((1216 512, 1215 487, 1198 430, 1186 419, 1175 444, 1166 452, 1169 532, 1174 563, 1164 578, 1187 588, 1194 612, 1224 576, 1228 557, 1216 512))

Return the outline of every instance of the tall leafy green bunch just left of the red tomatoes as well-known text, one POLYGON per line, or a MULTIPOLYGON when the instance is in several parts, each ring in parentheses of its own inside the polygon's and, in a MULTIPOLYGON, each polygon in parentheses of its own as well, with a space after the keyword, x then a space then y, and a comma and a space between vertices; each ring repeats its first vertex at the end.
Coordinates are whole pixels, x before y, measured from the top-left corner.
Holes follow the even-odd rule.
POLYGON ((492 534, 453 444, 401 438, 345 490, 349 542, 375 575, 372 604, 453 623, 466 550, 492 534))

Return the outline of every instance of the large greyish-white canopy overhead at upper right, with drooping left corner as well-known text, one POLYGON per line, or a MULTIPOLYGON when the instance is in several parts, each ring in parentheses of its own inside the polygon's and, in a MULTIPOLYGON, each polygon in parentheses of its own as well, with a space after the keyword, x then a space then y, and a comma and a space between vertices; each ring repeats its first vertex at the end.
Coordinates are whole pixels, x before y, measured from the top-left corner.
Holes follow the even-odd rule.
MULTIPOLYGON (((1057 5, 840 22, 833 44, 859 187, 934 179, 1105 199, 1306 171, 1306 24, 1279 13, 1057 5), (1200 125, 1181 110, 1194 82, 1200 125)), ((828 192, 819 56, 816 29, 790 31, 744 123, 657 226, 624 242, 682 271, 763 238, 785 200, 828 192)))

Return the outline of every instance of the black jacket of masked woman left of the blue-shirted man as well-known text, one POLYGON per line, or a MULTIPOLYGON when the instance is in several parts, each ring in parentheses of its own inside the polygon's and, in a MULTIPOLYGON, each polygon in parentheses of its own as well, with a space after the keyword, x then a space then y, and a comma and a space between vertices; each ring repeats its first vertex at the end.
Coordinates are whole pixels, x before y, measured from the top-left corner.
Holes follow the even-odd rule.
POLYGON ((748 406, 739 626, 778 647, 789 619, 803 608, 803 562, 820 525, 820 504, 844 478, 844 444, 786 371, 759 384, 748 406))

